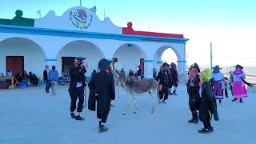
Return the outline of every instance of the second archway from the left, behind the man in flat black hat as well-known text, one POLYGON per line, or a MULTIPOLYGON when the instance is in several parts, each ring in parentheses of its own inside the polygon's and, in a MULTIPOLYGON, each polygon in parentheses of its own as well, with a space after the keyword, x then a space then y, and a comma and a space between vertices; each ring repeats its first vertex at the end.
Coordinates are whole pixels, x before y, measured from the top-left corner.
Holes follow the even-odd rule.
POLYGON ((57 69, 62 72, 63 76, 69 76, 69 68, 74 62, 75 57, 85 57, 89 67, 86 76, 90 77, 91 72, 98 69, 98 62, 101 58, 105 58, 102 50, 94 43, 84 40, 78 40, 66 44, 62 50, 58 52, 57 69))

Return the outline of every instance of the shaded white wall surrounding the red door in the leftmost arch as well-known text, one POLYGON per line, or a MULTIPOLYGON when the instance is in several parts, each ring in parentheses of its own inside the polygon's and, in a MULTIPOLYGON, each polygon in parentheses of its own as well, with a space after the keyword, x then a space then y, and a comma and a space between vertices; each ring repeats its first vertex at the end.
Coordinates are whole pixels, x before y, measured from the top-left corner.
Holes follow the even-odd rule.
POLYGON ((24 70, 39 77, 46 66, 46 54, 38 44, 26 38, 10 38, 0 42, 0 72, 6 74, 6 56, 24 56, 24 70))

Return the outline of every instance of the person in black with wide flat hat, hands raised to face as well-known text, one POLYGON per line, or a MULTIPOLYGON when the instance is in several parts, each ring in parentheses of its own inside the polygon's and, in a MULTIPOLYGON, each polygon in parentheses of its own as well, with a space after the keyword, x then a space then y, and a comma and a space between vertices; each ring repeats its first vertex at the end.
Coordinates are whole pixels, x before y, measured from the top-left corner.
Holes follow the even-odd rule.
POLYGON ((84 74, 86 74, 86 68, 88 67, 87 65, 83 65, 83 60, 85 59, 86 58, 82 57, 75 58, 73 66, 70 67, 70 115, 71 118, 74 118, 78 121, 85 119, 81 117, 82 106, 84 102, 84 88, 86 86, 86 79, 84 74), (77 99, 79 100, 78 106, 76 106, 77 99), (76 109, 78 112, 77 115, 74 114, 74 110, 76 109))

